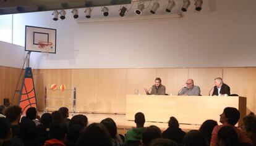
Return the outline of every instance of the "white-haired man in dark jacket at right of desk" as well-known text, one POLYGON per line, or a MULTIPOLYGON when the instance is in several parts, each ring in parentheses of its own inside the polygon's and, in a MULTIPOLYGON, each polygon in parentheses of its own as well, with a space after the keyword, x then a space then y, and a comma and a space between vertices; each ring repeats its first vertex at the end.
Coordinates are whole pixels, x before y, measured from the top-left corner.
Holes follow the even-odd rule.
POLYGON ((230 87, 227 84, 223 83, 222 78, 214 79, 214 89, 212 95, 219 95, 219 94, 228 94, 230 95, 230 87))

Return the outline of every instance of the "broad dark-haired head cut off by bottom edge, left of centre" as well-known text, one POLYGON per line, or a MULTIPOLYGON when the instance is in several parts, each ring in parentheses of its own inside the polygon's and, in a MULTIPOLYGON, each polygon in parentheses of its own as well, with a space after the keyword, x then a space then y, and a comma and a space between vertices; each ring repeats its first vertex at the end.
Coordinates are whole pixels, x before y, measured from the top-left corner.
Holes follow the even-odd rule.
POLYGON ((78 146, 111 146, 111 138, 108 130, 101 123, 92 123, 80 136, 78 146))

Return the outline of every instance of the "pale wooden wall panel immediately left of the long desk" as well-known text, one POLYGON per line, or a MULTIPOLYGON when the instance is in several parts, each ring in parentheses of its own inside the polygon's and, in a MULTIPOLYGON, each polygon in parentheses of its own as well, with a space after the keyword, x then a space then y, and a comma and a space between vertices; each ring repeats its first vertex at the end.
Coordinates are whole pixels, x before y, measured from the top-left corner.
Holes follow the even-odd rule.
POLYGON ((98 103, 96 112, 126 112, 126 69, 98 70, 98 103))

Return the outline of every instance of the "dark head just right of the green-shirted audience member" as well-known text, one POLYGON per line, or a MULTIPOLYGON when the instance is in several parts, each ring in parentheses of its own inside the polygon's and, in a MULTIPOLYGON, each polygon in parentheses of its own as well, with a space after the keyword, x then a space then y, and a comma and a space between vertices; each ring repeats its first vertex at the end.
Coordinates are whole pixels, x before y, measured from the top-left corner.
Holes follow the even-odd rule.
POLYGON ((162 137, 161 130, 157 126, 149 126, 146 128, 142 134, 143 145, 150 145, 151 140, 158 139, 162 137))

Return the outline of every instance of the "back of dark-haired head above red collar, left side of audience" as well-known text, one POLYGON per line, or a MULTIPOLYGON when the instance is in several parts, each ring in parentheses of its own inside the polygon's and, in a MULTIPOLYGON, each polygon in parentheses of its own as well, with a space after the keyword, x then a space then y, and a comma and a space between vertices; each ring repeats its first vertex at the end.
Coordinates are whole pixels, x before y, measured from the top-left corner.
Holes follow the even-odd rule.
POLYGON ((51 126, 49 128, 49 137, 51 139, 58 139, 62 140, 65 138, 67 134, 67 126, 62 121, 54 121, 51 123, 51 126))

